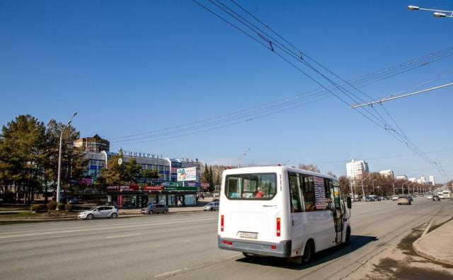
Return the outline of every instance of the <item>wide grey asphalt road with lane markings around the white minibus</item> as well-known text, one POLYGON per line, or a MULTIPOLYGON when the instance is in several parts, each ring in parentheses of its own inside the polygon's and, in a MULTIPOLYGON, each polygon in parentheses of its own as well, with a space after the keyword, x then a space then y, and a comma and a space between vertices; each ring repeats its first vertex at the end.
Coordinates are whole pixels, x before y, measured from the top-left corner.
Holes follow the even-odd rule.
POLYGON ((308 265, 219 250, 217 212, 0 224, 0 278, 360 279, 364 264, 412 228, 452 213, 453 201, 422 197, 411 206, 353 204, 351 245, 321 252, 308 265))

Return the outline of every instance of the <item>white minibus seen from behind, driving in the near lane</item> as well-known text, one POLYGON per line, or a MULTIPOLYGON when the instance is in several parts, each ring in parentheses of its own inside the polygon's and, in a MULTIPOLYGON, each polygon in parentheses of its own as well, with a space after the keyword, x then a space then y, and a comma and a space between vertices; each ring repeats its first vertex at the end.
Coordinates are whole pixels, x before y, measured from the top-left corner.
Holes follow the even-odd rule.
POLYGON ((315 252, 348 244, 350 232, 335 177, 285 166, 237 168, 222 175, 221 249, 309 262, 315 252))

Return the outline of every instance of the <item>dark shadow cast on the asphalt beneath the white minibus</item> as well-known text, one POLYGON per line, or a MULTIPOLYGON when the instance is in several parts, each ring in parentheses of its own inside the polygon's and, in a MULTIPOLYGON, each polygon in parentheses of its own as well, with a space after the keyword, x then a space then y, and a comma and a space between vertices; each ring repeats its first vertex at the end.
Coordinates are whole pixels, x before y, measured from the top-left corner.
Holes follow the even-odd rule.
POLYGON ((236 262, 246 262, 250 264, 259 264, 268 267, 281 267, 287 269, 296 269, 302 270, 307 269, 309 267, 316 267, 316 265, 323 264, 324 262, 329 262, 332 259, 337 259, 339 257, 343 257, 344 255, 348 255, 350 252, 353 252, 360 247, 367 245, 373 241, 378 240, 374 236, 365 236, 365 235, 351 235, 350 245, 338 245, 336 247, 331 247, 327 250, 323 250, 321 252, 316 253, 316 257, 314 261, 310 262, 309 264, 295 264, 294 262, 289 262, 287 259, 280 258, 280 257, 251 257, 246 258, 243 257, 241 259, 236 259, 236 262))

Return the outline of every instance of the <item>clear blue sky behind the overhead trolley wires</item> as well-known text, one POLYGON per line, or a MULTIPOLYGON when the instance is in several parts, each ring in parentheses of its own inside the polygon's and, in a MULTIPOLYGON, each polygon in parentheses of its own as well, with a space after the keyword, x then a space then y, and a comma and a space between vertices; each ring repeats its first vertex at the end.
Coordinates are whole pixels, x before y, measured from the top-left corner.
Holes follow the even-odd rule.
MULTIPOLYGON (((453 45, 452 19, 406 9, 452 10, 451 1, 239 3, 347 79, 453 45)), ((0 37, 1 124, 20 114, 64 122, 77 110, 81 134, 112 139, 113 150, 234 164, 251 147, 243 163, 317 163, 322 172, 343 175, 345 163, 356 158, 373 171, 453 178, 452 88, 386 105, 429 158, 442 163, 445 178, 336 98, 202 133, 115 143, 115 137, 319 88, 193 1, 4 0, 0 37)), ((452 63, 442 59, 362 91, 379 99, 448 83, 452 63)))

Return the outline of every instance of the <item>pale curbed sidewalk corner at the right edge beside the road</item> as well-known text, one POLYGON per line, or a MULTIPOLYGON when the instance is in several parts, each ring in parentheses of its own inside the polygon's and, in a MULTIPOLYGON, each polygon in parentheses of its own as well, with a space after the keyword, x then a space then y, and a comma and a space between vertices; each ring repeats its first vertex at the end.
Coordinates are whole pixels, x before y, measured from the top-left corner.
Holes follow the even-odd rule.
POLYGON ((453 221, 418 238, 412 247, 422 257, 453 265, 453 221))

